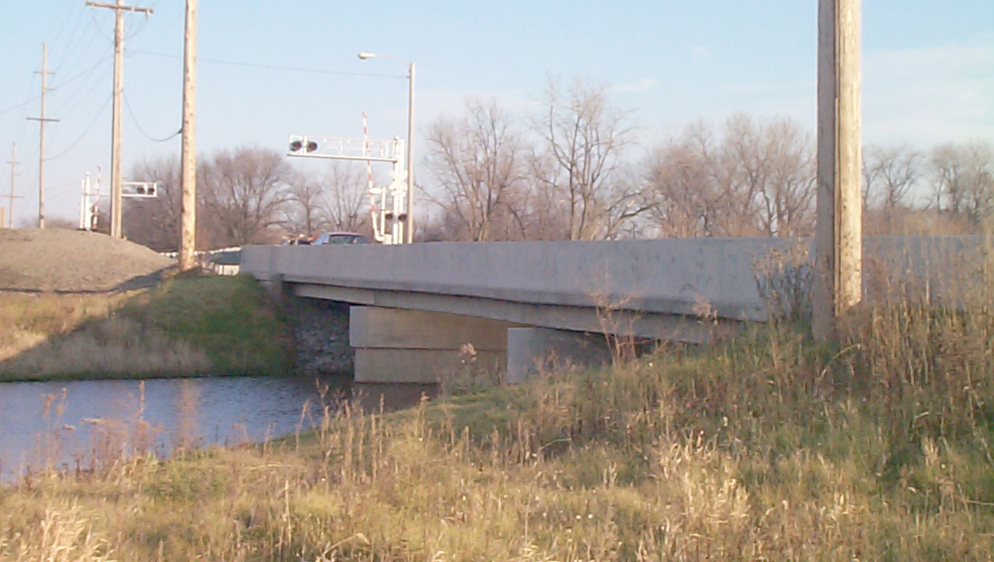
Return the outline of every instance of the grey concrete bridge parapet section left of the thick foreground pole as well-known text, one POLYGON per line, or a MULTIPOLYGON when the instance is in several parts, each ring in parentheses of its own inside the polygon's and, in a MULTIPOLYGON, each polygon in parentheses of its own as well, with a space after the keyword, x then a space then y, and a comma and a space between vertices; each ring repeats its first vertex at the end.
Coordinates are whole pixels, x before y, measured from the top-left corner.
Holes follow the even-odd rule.
POLYGON ((752 261, 788 240, 707 238, 250 246, 242 269, 266 280, 568 307, 763 321, 752 261))

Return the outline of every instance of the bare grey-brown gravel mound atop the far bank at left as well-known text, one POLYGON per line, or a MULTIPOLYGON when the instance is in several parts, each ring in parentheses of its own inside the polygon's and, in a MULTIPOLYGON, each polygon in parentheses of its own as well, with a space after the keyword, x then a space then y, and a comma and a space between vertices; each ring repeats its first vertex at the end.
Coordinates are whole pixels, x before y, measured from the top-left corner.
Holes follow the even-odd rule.
POLYGON ((0 290, 104 292, 149 286, 176 260, 106 234, 0 228, 0 290))

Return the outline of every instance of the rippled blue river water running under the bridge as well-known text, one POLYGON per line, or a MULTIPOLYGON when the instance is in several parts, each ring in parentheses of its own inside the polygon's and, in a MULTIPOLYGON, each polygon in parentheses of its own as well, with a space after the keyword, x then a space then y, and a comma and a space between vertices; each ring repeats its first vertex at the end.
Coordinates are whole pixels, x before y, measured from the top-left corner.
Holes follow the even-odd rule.
POLYGON ((342 378, 200 377, 0 382, 0 482, 177 447, 259 443, 307 429, 325 405, 414 405, 433 385, 342 378))

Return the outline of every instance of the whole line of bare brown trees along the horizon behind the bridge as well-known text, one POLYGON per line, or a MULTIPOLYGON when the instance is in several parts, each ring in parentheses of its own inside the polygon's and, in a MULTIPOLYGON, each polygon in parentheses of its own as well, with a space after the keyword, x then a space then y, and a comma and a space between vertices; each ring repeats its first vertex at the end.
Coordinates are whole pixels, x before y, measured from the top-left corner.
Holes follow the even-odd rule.
MULTIPOLYGON (((814 231, 815 140, 790 117, 694 122, 649 147, 605 85, 551 78, 531 114, 469 99, 427 127, 415 167, 415 239, 603 240, 806 236, 814 231), (426 205, 426 207, 425 207, 426 205)), ((984 141, 863 152, 867 234, 972 233, 994 216, 994 150, 984 141)), ((159 182, 129 200, 124 234, 179 243, 179 161, 134 167, 159 182)), ((369 234, 363 165, 307 173, 257 147, 202 157, 198 245, 277 242, 325 230, 369 234)), ((378 183, 382 185, 382 183, 378 183)))

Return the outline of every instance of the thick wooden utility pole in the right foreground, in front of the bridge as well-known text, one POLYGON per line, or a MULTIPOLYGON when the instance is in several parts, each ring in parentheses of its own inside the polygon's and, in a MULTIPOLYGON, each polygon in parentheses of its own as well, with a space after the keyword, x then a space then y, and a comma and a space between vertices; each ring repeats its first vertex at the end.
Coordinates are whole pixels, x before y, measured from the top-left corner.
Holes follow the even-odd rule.
POLYGON ((860 0, 818 0, 816 340, 863 297, 860 0))

